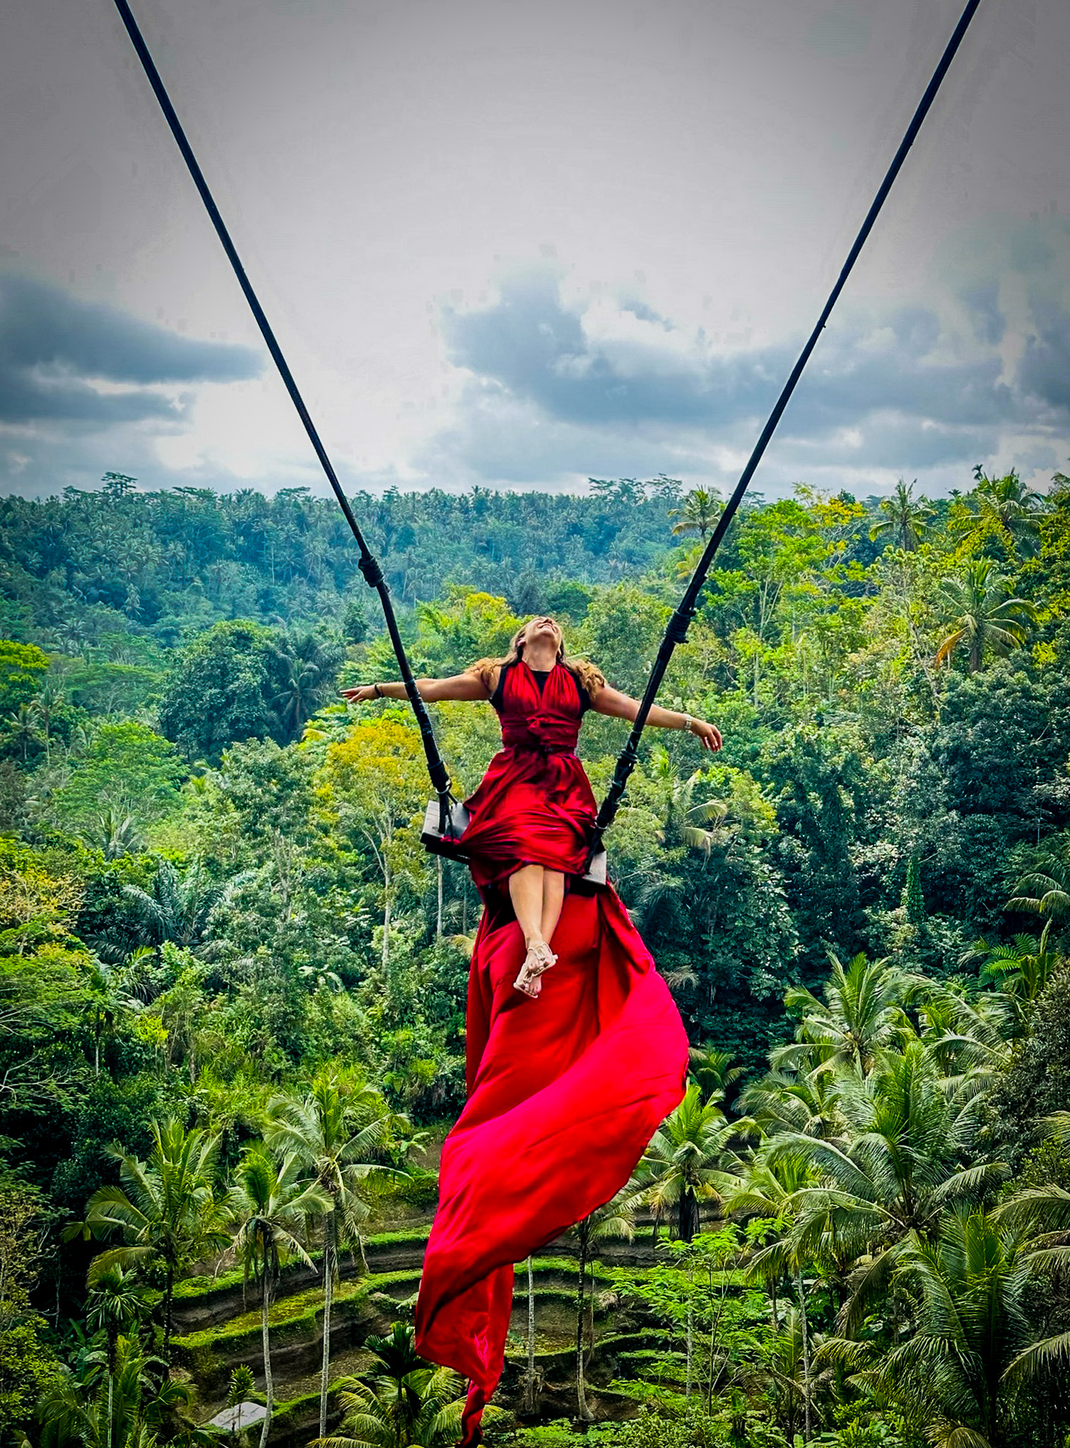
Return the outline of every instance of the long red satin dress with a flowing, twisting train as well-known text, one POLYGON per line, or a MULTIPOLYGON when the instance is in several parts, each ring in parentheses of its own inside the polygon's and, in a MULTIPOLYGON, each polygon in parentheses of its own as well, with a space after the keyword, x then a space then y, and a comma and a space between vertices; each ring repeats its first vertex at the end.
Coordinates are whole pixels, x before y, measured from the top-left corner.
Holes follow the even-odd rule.
POLYGON ((439 1211, 416 1309, 423 1357, 469 1378, 463 1448, 501 1377, 513 1264, 631 1176, 683 1096, 688 1040, 611 885, 581 882, 595 817, 575 744, 581 685, 502 669, 501 753, 466 801, 462 843, 484 896, 468 986, 468 1102, 442 1151, 439 1211), (513 988, 524 938, 505 879, 524 863, 568 875, 557 964, 530 999, 513 988))

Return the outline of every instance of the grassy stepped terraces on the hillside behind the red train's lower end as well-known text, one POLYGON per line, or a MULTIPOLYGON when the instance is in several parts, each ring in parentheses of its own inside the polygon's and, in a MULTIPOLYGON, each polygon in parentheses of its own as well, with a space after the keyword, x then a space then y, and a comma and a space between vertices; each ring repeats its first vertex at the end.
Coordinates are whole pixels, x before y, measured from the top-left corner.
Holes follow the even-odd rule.
MULTIPOLYGON (((424 1219, 369 1237, 363 1244, 365 1261, 358 1255, 342 1260, 332 1312, 332 1384, 371 1367, 372 1355, 365 1348, 371 1334, 388 1332, 398 1319, 411 1321, 429 1231, 430 1212, 424 1219)), ((665 1331, 649 1315, 605 1292, 611 1267, 639 1270, 654 1260, 650 1224, 640 1224, 633 1242, 599 1244, 599 1260, 594 1264, 594 1351, 586 1367, 588 1399, 597 1418, 631 1416, 641 1399, 640 1384, 652 1370, 662 1377, 675 1376, 672 1342, 665 1331)), ((523 1268, 517 1271, 505 1371, 494 1402, 527 1420, 573 1416, 578 1263, 572 1239, 560 1238, 536 1258, 533 1277, 539 1381, 534 1413, 526 1394, 528 1303, 523 1268)), ((197 1390, 200 1420, 226 1405, 230 1374, 240 1365, 252 1370, 262 1390, 258 1290, 243 1287, 240 1271, 181 1283, 175 1295, 175 1365, 197 1390)), ((277 1400, 272 1448, 298 1448, 317 1434, 323 1354, 323 1290, 317 1271, 295 1267, 284 1273, 271 1308, 271 1344, 277 1400)), ((340 1409, 332 1403, 332 1428, 339 1420, 340 1409)))

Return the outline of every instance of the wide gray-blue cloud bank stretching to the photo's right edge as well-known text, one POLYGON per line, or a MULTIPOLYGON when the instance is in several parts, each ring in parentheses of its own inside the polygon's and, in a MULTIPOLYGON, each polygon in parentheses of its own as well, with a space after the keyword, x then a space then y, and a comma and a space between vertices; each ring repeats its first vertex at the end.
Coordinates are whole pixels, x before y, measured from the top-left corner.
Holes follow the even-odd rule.
MULTIPOLYGON (((996 288, 977 285, 961 301, 973 336, 950 336, 925 306, 841 314, 785 414, 778 466, 796 476, 827 466, 941 471, 993 456, 1008 434, 1021 442, 1064 423, 1070 314, 1051 311, 1041 324, 1034 308, 1037 332, 1008 381, 996 288)), ((582 473, 610 443, 666 469, 675 458, 723 476, 714 453, 750 449, 799 346, 728 350, 643 303, 569 306, 559 275, 540 268, 510 277, 488 307, 446 311, 443 336, 472 376, 459 424, 439 442, 475 473, 510 481, 537 476, 552 458, 582 473), (505 436, 521 420, 526 443, 510 463, 505 436)))

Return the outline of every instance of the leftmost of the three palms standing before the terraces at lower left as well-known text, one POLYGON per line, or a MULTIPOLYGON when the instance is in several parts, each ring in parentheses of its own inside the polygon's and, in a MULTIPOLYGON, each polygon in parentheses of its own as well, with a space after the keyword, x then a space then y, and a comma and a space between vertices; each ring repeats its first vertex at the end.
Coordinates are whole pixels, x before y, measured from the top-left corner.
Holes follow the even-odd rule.
MULTIPOLYGON (((96 1273, 111 1266, 159 1263, 164 1268, 164 1357, 171 1354, 172 1302, 178 1274, 229 1241, 224 1215, 216 1199, 219 1137, 198 1127, 185 1131, 174 1118, 153 1121, 148 1161, 126 1156, 122 1147, 109 1154, 119 1161, 120 1186, 101 1186, 90 1197, 84 1228, 94 1237, 122 1232, 123 1247, 94 1260, 96 1273)), ((83 1224, 69 1226, 71 1239, 83 1224)))

